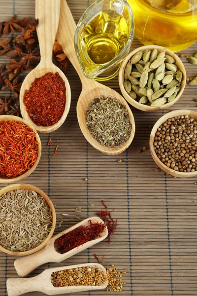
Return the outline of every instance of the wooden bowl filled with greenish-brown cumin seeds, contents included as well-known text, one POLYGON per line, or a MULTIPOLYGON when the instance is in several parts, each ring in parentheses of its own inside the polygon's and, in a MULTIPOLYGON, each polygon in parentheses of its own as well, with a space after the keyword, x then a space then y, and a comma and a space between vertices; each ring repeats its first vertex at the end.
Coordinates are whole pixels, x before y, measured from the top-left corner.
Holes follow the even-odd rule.
POLYGON ((0 251, 33 254, 50 240, 55 225, 53 203, 38 187, 13 184, 0 190, 0 251))

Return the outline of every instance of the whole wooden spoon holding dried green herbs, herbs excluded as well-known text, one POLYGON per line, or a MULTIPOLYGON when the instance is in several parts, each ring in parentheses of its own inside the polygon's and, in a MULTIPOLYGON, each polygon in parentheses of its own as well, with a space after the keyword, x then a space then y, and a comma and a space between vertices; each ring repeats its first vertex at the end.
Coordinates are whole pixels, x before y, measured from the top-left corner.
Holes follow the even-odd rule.
POLYGON ((78 73, 83 86, 82 92, 79 96, 79 100, 77 103, 77 118, 78 118, 79 126, 86 140, 100 152, 105 154, 112 154, 112 155, 122 153, 125 149, 127 149, 131 145, 131 142, 135 134, 135 122, 134 122, 131 109, 129 108, 129 105, 127 104, 126 100, 116 91, 112 90, 111 88, 105 85, 100 84, 94 79, 88 79, 84 76, 74 49, 75 29, 76 29, 76 24, 70 12, 70 9, 66 3, 66 0, 61 0, 60 22, 59 22, 56 38, 58 42, 60 42, 61 45, 63 46, 63 50, 66 53, 70 62, 72 63, 73 67, 75 68, 76 72, 78 73), (92 100, 100 96, 115 97, 128 110, 130 121, 132 124, 131 136, 130 136, 130 139, 126 143, 122 144, 121 146, 110 148, 110 147, 105 147, 100 145, 99 142, 91 136, 87 128, 86 110, 88 109, 88 106, 90 105, 92 100))

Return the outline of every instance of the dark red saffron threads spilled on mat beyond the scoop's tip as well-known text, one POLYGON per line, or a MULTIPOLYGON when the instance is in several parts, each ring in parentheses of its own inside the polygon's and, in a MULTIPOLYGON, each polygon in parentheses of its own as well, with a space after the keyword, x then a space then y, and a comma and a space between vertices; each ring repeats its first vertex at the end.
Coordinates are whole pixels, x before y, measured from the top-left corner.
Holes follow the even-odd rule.
MULTIPOLYGON (((108 209, 107 206, 104 203, 104 200, 101 200, 103 206, 105 209, 108 209)), ((106 224, 107 229, 108 229, 108 244, 111 243, 111 234, 116 231, 117 227, 117 219, 116 221, 111 217, 111 213, 114 211, 114 209, 110 212, 107 212, 106 210, 100 210, 99 213, 97 214, 99 217, 102 218, 103 222, 106 224)))

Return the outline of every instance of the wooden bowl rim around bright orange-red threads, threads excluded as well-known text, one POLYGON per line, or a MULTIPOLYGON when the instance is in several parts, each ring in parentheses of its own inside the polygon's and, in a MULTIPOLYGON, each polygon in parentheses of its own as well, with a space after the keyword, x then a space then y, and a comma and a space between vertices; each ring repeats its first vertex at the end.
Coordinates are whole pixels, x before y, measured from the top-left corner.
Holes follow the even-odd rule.
POLYGON ((36 132, 36 130, 34 129, 34 127, 29 124, 29 122, 27 122, 26 120, 24 120, 18 116, 0 115, 0 121, 5 121, 5 120, 23 122, 27 126, 30 126, 33 129, 33 131, 35 132, 35 137, 36 137, 37 143, 38 143, 38 155, 37 155, 37 159, 36 159, 33 167, 29 171, 27 171, 26 173, 24 173, 21 176, 18 176, 16 178, 0 178, 0 183, 3 183, 3 184, 19 182, 19 181, 27 178, 28 176, 30 176, 32 174, 32 172, 34 171, 34 169, 36 168, 36 166, 38 165, 38 162, 39 162, 40 156, 41 156, 41 150, 42 150, 40 137, 39 137, 38 133, 36 132))

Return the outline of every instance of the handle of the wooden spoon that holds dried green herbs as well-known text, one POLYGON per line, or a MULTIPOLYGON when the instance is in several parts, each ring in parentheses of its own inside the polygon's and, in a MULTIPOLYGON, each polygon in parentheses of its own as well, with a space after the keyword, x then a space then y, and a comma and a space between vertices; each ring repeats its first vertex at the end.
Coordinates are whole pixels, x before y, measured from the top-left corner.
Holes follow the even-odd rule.
POLYGON ((87 84, 89 88, 90 84, 92 84, 93 87, 96 87, 96 81, 94 79, 86 78, 81 70, 81 66, 74 48, 75 29, 76 24, 70 8, 68 7, 66 0, 61 0, 60 23, 57 32, 57 40, 62 45, 69 61, 72 63, 77 74, 79 75, 83 84, 83 88, 85 88, 87 84))

